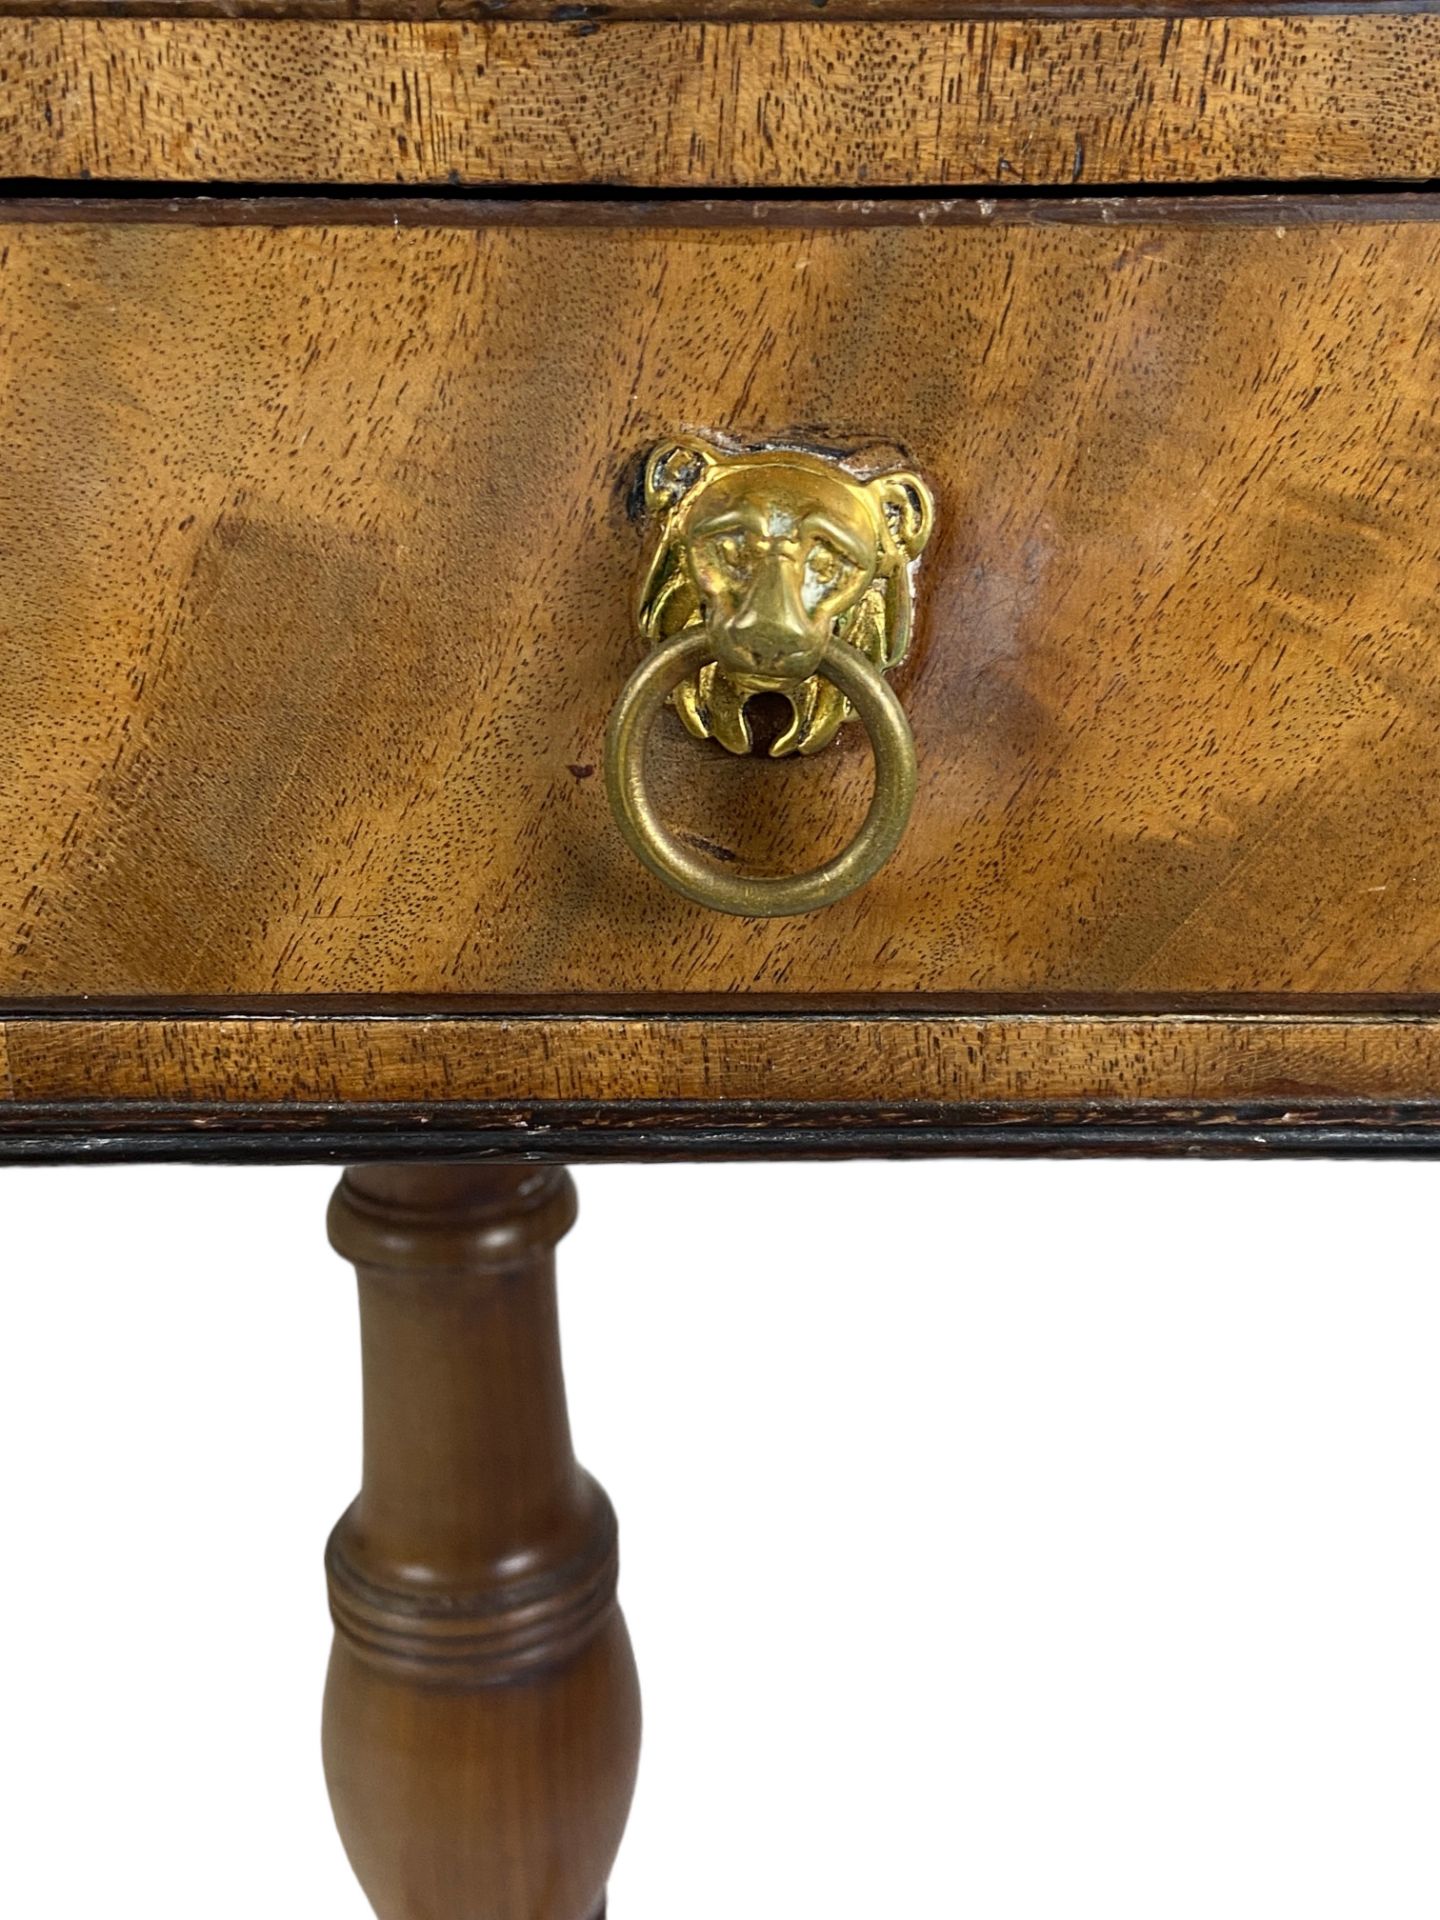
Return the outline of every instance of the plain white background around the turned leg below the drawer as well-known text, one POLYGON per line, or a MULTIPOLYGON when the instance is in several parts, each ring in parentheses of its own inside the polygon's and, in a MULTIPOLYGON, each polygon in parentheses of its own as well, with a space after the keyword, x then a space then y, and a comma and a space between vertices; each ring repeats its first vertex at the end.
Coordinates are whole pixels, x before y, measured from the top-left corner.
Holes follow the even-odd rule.
MULTIPOLYGON (((1440 1912, 1436 1175, 582 1169, 612 1920, 1440 1912)), ((328 1169, 4 1175, 0 1910, 365 1920, 328 1169)))

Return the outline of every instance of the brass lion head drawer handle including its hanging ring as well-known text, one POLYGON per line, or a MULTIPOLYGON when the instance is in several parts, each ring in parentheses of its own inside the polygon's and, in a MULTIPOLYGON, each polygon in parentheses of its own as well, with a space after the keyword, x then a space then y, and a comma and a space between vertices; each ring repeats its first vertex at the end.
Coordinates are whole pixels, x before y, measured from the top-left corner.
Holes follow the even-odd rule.
POLYGON ((632 851, 670 887, 730 914, 804 914, 872 879, 904 833, 914 741, 883 674, 910 643, 914 563, 935 509, 912 472, 852 474, 818 453, 728 453, 670 440, 645 463, 657 522, 639 595, 653 647, 620 693, 605 783, 632 851), (747 703, 781 693, 772 756, 812 755, 860 714, 876 793, 851 845, 806 874, 758 877, 699 860, 655 816, 643 753, 666 697, 697 739, 751 753, 747 703))

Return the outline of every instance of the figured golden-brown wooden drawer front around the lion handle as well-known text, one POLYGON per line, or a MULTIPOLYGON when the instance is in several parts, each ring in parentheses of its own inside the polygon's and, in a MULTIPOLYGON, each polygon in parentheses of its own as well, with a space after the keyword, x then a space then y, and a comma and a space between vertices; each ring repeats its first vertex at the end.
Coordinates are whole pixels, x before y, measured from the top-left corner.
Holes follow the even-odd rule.
MULTIPOLYGON (((1427 211, 12 219, 0 993, 1436 993, 1427 211), (691 906, 605 806, 678 426, 937 486, 914 820, 822 914, 691 906)), ((657 732, 722 856, 864 806, 854 737, 657 732)))

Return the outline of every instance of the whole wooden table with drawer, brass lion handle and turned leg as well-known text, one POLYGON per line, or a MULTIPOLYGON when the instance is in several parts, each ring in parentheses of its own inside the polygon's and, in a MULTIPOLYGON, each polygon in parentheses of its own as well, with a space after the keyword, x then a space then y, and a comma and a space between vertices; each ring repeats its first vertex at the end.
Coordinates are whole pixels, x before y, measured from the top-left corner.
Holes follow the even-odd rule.
POLYGON ((348 1164, 340 1828, 593 1920, 563 1162, 1436 1140, 1440 17, 0 0, 0 1156, 348 1164))

